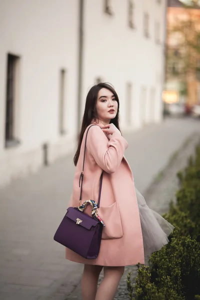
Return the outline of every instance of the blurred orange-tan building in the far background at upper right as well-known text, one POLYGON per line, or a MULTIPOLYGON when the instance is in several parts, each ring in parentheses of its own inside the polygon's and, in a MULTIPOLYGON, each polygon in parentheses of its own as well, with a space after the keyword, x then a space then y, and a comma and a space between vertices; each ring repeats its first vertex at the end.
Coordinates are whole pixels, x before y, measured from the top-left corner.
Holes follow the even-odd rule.
POLYGON ((189 113, 200 104, 200 6, 168 0, 166 82, 163 98, 189 113))

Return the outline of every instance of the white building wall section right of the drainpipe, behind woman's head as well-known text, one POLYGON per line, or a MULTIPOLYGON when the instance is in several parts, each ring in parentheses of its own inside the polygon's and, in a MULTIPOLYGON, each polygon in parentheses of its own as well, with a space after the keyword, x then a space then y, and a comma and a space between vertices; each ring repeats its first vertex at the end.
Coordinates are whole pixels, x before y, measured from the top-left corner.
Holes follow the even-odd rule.
POLYGON ((96 77, 112 83, 119 95, 120 120, 126 125, 126 83, 132 82, 132 126, 161 119, 161 90, 164 67, 165 3, 156 0, 134 0, 134 25, 128 27, 128 0, 110 0, 113 15, 104 12, 104 1, 85 0, 84 10, 84 66, 82 110, 88 89, 96 77), (149 13, 149 38, 143 34, 143 13, 149 13), (155 42, 155 22, 160 24, 160 43, 155 42), (145 105, 141 119, 141 93, 146 89, 145 105), (150 89, 155 89, 155 101, 150 99, 150 89), (155 102, 154 119, 149 102, 155 102), (148 109, 148 110, 146 110, 148 109))

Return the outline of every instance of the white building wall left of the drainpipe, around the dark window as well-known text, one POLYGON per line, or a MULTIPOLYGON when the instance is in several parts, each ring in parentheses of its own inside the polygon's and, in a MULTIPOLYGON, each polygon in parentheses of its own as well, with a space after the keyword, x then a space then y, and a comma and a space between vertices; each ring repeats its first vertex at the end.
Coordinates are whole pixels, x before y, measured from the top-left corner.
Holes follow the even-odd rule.
POLYGON ((0 1, 0 183, 38 169, 73 148, 76 134, 78 0, 0 1), (6 58, 20 56, 16 137, 4 147, 6 58), (66 134, 58 130, 59 71, 66 69, 66 134))

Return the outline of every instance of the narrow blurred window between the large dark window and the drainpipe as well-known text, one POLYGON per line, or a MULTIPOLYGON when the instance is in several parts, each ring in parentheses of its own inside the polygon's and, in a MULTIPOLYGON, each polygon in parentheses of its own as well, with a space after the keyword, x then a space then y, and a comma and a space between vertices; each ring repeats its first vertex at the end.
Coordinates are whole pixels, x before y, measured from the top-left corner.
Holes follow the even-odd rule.
POLYGON ((60 95, 59 95, 59 133, 65 134, 66 130, 64 127, 64 117, 65 117, 65 82, 66 82, 66 70, 60 70, 60 95))

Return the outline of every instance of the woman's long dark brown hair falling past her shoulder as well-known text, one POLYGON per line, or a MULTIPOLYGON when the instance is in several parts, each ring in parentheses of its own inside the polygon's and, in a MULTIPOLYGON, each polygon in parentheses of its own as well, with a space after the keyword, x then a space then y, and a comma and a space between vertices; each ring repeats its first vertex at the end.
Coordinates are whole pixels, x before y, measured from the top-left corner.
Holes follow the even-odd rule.
POLYGON ((97 112, 96 112, 96 101, 97 101, 98 92, 101 88, 109 89, 116 98, 116 101, 118 103, 117 113, 116 113, 116 116, 110 120, 110 123, 113 123, 120 130, 120 128, 119 128, 119 99, 118 99, 116 91, 109 83, 106 83, 106 82, 100 82, 98 84, 93 85, 90 88, 90 90, 88 91, 88 94, 86 96, 84 114, 83 114, 83 118, 82 118, 82 125, 81 125, 81 129, 80 129, 80 134, 78 137, 78 147, 77 147, 77 150, 73 157, 73 162, 75 165, 77 164, 77 161, 78 161, 78 157, 80 154, 80 146, 81 146, 83 134, 84 134, 86 127, 91 123, 91 121, 93 119, 95 121, 98 120, 97 112))

